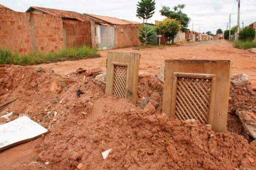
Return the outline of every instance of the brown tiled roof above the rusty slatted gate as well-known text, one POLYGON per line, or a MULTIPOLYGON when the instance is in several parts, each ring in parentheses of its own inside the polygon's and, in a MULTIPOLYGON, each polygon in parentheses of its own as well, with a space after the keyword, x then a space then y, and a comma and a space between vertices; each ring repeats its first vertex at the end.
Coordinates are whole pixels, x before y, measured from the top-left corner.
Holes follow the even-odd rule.
POLYGON ((33 9, 42 11, 46 14, 52 14, 52 15, 55 15, 55 16, 60 16, 60 17, 65 17, 65 18, 75 18, 75 19, 81 20, 81 21, 94 20, 96 23, 104 23, 101 20, 97 20, 93 17, 86 16, 86 15, 80 14, 78 12, 64 11, 64 10, 60 10, 60 9, 42 8, 42 7, 37 7, 37 6, 31 6, 26 12, 31 12, 33 9))

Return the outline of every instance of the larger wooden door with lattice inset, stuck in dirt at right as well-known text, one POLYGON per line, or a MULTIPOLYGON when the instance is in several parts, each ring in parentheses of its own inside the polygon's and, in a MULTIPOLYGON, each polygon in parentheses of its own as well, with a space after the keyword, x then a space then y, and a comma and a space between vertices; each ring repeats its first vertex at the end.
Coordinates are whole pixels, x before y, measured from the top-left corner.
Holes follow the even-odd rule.
MULTIPOLYGON (((163 89, 163 113, 169 117, 177 117, 182 120, 191 118, 198 119, 198 122, 201 124, 212 125, 212 130, 215 132, 224 132, 227 130, 231 61, 168 59, 165 60, 164 63, 165 76, 163 89), (178 92, 178 96, 183 97, 183 99, 181 97, 177 99, 177 83, 180 77, 183 77, 184 79, 190 77, 191 80, 193 80, 192 78, 211 80, 210 104, 207 105, 207 108, 209 107, 209 112, 206 111, 206 108, 203 106, 202 101, 204 100, 202 98, 198 98, 200 92, 197 92, 196 94, 194 92, 195 89, 191 87, 189 88, 189 84, 186 84, 186 87, 183 83, 183 88, 180 86, 182 91, 178 92), (176 102, 178 100, 179 102, 176 102), (177 111, 176 105, 179 105, 177 106, 179 107, 179 110, 177 111), (185 111, 185 106, 187 111, 185 111), (183 111, 181 111, 181 108, 183 111), (179 115, 176 115, 176 112, 179 112, 179 115), (205 116, 207 113, 209 113, 208 117, 205 116), (201 117, 201 119, 199 117, 201 117)), ((186 79, 184 82, 186 82, 186 79)), ((204 88, 203 84, 202 88, 204 88)), ((203 93, 204 92, 201 91, 199 97, 203 93)), ((205 96, 203 95, 201 97, 205 96)))

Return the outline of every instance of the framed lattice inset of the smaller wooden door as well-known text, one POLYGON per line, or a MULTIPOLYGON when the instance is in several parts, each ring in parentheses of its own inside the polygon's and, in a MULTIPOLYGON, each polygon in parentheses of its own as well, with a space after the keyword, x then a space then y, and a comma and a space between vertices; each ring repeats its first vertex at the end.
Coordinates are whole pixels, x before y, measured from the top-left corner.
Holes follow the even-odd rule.
POLYGON ((111 94, 119 97, 127 97, 128 84, 130 73, 130 64, 122 62, 111 62, 112 81, 113 88, 111 94))

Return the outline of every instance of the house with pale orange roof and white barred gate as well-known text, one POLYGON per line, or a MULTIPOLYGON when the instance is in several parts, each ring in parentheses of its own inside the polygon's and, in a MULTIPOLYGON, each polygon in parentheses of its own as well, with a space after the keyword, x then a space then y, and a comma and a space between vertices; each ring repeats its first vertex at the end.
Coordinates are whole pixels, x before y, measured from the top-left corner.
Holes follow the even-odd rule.
POLYGON ((139 29, 142 23, 95 14, 84 15, 105 22, 95 24, 96 46, 100 50, 141 45, 139 29))

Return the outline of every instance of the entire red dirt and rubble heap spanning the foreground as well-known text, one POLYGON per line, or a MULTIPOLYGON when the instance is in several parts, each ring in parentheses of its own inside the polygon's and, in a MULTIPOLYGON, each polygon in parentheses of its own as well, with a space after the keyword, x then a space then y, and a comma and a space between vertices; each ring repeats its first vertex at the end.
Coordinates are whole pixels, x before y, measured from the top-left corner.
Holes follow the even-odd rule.
POLYGON ((105 86, 91 76, 84 78, 84 73, 61 77, 44 69, 7 65, 0 67, 0 77, 0 103, 17 97, 0 108, 0 116, 14 111, 10 119, 16 119, 24 113, 50 131, 31 160, 41 169, 256 167, 256 145, 239 135, 243 128, 235 114, 255 113, 255 92, 248 84, 230 88, 228 130, 234 133, 214 133, 209 126, 169 120, 162 114, 163 83, 153 75, 140 77, 137 106, 104 95, 105 86), (146 110, 148 103, 155 110, 146 110), (110 148, 104 160, 101 152, 110 148))

